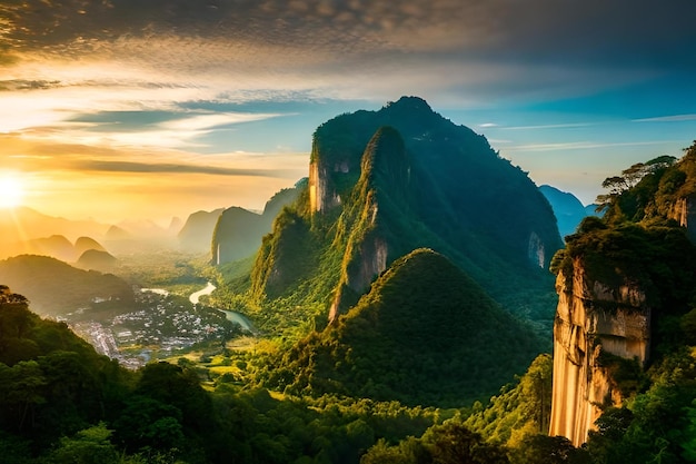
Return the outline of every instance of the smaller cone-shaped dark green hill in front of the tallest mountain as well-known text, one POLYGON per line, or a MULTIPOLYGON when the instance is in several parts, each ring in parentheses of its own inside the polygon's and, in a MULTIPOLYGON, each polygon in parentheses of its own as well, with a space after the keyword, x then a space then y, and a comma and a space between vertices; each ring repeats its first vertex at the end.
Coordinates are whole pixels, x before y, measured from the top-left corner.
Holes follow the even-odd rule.
POLYGON ((271 385, 451 407, 487 398, 535 354, 529 327, 443 255, 417 249, 336 324, 286 353, 271 385))

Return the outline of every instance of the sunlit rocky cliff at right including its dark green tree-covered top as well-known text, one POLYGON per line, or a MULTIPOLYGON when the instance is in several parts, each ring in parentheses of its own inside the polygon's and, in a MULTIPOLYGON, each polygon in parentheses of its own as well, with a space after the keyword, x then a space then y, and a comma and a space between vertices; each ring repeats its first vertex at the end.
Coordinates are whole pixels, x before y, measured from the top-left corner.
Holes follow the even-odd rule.
POLYGON ((558 306, 550 435, 580 445, 607 407, 640 393, 646 367, 683 337, 694 263, 696 248, 673 220, 587 217, 566 237, 551 265, 558 306))

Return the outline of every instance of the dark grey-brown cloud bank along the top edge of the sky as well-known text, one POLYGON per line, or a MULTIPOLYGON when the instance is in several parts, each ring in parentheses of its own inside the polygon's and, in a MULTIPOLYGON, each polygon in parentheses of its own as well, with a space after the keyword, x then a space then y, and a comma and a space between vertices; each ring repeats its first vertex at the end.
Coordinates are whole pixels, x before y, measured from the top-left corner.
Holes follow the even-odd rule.
POLYGON ((466 48, 527 59, 565 51, 573 61, 609 60, 620 49, 613 59, 630 61, 645 53, 659 59, 658 51, 677 57, 666 45, 693 39, 695 9, 690 0, 634 0, 630 9, 601 0, 7 0, 0 14, 7 47, 48 53, 103 52, 119 41, 176 36, 225 41, 232 55, 288 45, 307 57, 466 48))

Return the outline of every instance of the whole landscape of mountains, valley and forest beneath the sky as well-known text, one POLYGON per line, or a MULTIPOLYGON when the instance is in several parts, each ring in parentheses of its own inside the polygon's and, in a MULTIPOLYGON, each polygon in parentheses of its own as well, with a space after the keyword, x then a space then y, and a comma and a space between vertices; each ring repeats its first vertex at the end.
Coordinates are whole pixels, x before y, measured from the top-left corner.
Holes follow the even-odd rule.
POLYGON ((312 141, 309 177, 261 214, 196 211, 159 238, 37 235, 1 260, 0 450, 22 464, 97 448, 109 464, 696 456, 696 146, 607 178, 588 209, 417 97, 312 141))

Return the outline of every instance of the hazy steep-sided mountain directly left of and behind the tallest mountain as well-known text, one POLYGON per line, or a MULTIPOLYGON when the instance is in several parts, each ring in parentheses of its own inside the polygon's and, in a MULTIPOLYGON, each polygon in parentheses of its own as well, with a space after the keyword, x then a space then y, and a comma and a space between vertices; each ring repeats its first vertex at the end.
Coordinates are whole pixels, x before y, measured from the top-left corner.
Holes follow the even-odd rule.
MULTIPOLYGON (((298 186, 302 182, 306 184, 306 179, 298 186)), ((278 191, 266 203, 260 215, 239 207, 222 211, 212 231, 212 261, 221 265, 253 255, 261 246, 264 235, 271 231, 278 213, 296 200, 298 191, 297 186, 278 191)))

